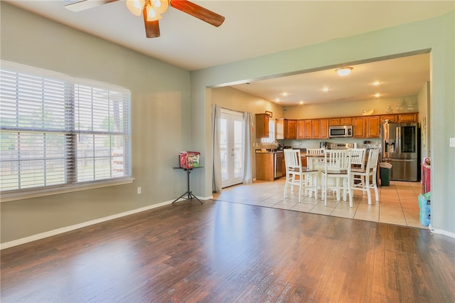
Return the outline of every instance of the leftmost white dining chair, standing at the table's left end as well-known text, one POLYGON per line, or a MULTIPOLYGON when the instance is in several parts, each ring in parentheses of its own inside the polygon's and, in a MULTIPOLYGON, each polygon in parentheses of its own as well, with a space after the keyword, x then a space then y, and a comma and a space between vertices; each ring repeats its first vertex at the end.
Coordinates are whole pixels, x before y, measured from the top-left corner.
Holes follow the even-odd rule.
POLYGON ((299 203, 302 192, 309 196, 314 192, 314 198, 318 198, 317 170, 301 166, 300 149, 284 149, 284 164, 286 166, 286 183, 284 184, 284 198, 287 198, 288 187, 294 191, 294 186, 299 186, 299 203))

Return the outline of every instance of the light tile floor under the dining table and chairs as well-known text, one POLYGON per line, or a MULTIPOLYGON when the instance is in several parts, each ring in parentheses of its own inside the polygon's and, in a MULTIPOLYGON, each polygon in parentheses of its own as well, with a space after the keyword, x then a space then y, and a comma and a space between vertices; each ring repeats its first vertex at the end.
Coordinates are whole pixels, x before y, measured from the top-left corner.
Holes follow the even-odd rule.
POLYGON ((372 204, 368 205, 366 193, 354 191, 353 208, 349 202, 336 201, 336 196, 327 196, 327 206, 319 199, 302 196, 298 200, 298 187, 294 193, 289 191, 287 198, 284 196, 284 178, 276 181, 255 181, 249 185, 237 185, 223 188, 221 193, 214 193, 215 200, 243 203, 271 208, 283 208, 291 211, 306 213, 319 213, 326 216, 337 216, 368 220, 395 225, 427 228, 420 223, 419 200, 422 185, 420 182, 390 181, 390 186, 378 186, 379 202, 375 202, 375 193, 372 190, 372 204))

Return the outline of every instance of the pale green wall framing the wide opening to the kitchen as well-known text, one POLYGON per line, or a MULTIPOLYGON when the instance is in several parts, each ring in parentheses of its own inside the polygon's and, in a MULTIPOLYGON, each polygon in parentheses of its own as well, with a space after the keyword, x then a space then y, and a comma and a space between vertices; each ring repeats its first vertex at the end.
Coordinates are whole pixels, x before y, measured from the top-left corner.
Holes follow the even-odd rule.
MULTIPOLYGON (((455 148, 449 147, 449 137, 455 137, 454 15, 452 11, 437 18, 192 72, 193 148, 207 155, 204 165, 210 166, 210 87, 431 50, 432 228, 455 237, 455 148)), ((211 171, 201 171, 198 177, 200 193, 210 195, 211 171)))

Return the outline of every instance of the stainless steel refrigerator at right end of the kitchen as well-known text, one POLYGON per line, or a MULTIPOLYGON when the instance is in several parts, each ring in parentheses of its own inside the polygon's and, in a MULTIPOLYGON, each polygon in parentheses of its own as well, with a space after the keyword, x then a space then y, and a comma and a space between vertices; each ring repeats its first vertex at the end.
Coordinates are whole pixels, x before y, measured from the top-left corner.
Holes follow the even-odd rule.
POLYGON ((390 180, 419 178, 419 124, 381 124, 382 161, 392 164, 390 180))

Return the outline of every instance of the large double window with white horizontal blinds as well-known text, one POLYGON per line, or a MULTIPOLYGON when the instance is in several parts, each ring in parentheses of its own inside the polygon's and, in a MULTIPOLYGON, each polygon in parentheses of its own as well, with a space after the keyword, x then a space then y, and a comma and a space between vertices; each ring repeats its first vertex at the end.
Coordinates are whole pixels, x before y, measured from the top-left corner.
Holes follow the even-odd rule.
POLYGON ((129 90, 14 63, 0 72, 2 192, 131 176, 129 90))

